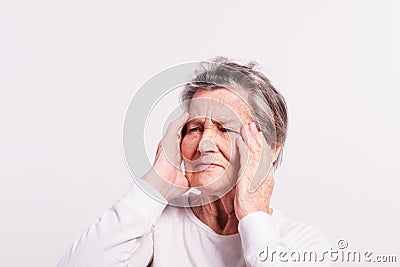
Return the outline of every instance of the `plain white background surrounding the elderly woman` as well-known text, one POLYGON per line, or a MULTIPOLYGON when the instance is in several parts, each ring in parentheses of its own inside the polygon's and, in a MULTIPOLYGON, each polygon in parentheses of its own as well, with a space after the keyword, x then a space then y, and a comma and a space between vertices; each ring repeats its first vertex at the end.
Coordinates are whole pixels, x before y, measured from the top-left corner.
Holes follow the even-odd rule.
POLYGON ((132 183, 136 90, 217 55, 288 102, 272 206, 400 260, 399 2, 132 2, 0 3, 0 266, 55 266, 132 183))

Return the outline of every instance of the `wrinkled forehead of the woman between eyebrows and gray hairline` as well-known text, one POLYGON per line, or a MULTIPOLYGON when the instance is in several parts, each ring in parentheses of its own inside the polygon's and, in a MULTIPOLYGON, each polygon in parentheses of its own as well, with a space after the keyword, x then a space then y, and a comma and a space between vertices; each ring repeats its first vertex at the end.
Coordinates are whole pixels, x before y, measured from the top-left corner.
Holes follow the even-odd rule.
POLYGON ((193 95, 189 120, 195 117, 208 117, 217 121, 240 120, 247 123, 252 112, 244 92, 233 92, 226 88, 199 89, 193 95))

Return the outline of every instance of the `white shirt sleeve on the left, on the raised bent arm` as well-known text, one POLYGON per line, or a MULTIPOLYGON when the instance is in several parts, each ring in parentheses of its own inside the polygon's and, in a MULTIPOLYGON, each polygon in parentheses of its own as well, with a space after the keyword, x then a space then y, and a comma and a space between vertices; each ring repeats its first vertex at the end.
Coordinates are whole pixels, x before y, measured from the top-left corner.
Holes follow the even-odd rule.
MULTIPOLYGON (((147 192, 150 190, 158 194, 145 181, 140 180, 139 183, 147 192)), ((148 265, 153 257, 152 228, 166 204, 166 200, 155 200, 137 184, 133 185, 124 198, 104 212, 74 242, 57 266, 148 265)))

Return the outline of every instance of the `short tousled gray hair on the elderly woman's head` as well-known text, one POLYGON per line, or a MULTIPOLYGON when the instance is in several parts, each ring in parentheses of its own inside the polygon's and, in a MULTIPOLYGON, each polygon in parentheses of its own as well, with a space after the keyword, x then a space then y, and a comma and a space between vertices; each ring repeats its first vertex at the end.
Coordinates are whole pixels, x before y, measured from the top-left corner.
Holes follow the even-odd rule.
POLYGON ((264 134, 267 143, 275 147, 281 144, 277 160, 273 163, 276 169, 282 161, 283 147, 286 140, 288 114, 284 97, 272 86, 269 79, 257 71, 254 61, 241 65, 225 57, 217 57, 205 62, 195 72, 195 78, 186 84, 181 94, 181 103, 188 109, 190 100, 199 89, 213 90, 242 88, 248 93, 248 105, 254 113, 257 127, 264 134))

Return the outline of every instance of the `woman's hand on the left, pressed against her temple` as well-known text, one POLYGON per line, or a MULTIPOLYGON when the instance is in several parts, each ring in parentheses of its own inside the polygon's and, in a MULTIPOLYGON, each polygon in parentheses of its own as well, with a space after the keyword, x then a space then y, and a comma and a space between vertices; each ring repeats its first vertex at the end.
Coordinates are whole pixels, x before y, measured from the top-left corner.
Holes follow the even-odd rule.
POLYGON ((181 131, 189 118, 184 112, 167 128, 158 144, 153 167, 142 178, 151 184, 166 200, 181 196, 189 189, 189 182, 182 173, 181 131))

